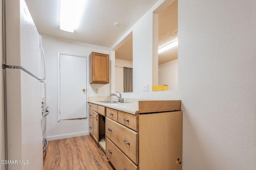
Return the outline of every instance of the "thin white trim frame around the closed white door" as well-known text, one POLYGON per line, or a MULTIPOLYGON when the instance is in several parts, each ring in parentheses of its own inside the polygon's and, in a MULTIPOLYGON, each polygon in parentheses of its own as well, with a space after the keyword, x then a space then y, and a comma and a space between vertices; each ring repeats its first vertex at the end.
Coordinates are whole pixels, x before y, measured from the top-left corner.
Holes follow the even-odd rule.
MULTIPOLYGON (((58 113, 58 122, 59 121, 67 121, 67 120, 71 120, 71 119, 67 119, 67 120, 61 120, 60 119, 60 55, 70 55, 70 56, 75 56, 75 57, 84 57, 86 58, 86 101, 88 101, 88 86, 89 86, 89 55, 75 55, 75 54, 68 54, 68 53, 61 53, 58 52, 57 55, 57 81, 58 81, 58 85, 57 85, 57 113, 58 113)), ((87 106, 87 104, 86 104, 87 106)), ((88 117, 88 111, 87 111, 88 107, 86 107, 86 118, 88 117)), ((76 120, 76 119, 74 119, 76 120)))

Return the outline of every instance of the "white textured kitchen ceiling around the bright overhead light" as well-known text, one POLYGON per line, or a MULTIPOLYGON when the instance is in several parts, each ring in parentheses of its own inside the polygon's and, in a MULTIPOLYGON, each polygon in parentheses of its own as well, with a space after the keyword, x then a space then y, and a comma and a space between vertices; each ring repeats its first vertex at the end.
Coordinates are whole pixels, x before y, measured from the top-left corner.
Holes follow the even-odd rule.
POLYGON ((25 1, 40 34, 111 47, 158 0, 87 0, 74 33, 59 29, 60 0, 25 1))

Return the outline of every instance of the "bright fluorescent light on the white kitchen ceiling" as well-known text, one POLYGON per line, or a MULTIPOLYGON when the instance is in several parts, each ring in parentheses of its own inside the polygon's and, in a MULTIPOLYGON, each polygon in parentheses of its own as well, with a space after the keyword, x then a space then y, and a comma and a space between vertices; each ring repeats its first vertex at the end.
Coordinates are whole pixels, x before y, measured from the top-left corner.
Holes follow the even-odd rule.
POLYGON ((61 0, 60 29, 74 32, 81 20, 86 0, 61 0))

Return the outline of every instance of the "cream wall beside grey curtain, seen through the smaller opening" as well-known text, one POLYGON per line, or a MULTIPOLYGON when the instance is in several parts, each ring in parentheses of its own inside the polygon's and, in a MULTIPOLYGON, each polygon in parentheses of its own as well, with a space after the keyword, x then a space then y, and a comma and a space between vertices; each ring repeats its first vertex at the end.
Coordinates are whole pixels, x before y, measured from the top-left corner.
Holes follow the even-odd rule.
POLYGON ((132 68, 132 61, 115 59, 115 87, 117 92, 124 92, 124 68, 120 67, 129 67, 132 68))

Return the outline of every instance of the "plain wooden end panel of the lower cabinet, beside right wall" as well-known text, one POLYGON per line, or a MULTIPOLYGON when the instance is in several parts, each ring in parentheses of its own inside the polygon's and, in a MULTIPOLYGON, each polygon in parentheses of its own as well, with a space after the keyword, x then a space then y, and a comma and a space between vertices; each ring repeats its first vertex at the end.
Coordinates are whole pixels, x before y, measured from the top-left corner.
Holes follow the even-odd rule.
POLYGON ((182 111, 139 116, 140 170, 182 170, 182 111))

